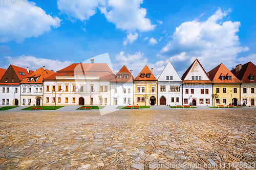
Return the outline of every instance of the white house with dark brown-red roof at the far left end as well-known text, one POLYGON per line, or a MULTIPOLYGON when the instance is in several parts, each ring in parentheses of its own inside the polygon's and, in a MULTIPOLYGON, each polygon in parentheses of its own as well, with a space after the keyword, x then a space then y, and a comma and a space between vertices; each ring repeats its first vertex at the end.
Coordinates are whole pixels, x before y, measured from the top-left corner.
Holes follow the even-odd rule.
POLYGON ((2 106, 19 106, 19 83, 34 71, 10 65, 0 80, 0 102, 2 106))

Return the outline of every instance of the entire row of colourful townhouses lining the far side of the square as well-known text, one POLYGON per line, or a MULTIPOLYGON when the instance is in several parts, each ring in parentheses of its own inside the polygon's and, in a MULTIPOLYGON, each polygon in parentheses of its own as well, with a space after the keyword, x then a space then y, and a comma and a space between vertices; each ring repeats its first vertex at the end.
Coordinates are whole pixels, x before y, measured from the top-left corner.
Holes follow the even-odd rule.
POLYGON ((254 106, 256 66, 229 70, 223 63, 206 72, 196 59, 180 78, 168 62, 158 79, 146 65, 134 78, 123 66, 115 75, 106 63, 74 63, 53 72, 10 65, 0 70, 2 105, 193 105, 254 106), (218 94, 212 99, 212 94, 218 94), (38 98, 39 96, 39 98, 38 98))

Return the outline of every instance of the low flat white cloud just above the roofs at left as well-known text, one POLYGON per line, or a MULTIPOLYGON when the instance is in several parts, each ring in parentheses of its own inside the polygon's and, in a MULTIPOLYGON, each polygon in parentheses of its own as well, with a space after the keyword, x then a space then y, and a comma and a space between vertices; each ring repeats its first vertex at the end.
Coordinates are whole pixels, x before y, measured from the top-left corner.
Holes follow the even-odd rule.
POLYGON ((27 68, 31 70, 38 69, 42 66, 46 66, 46 69, 53 69, 57 71, 59 69, 65 68, 68 65, 74 63, 71 61, 59 61, 44 58, 35 58, 33 56, 19 56, 19 57, 5 57, 7 59, 8 65, 13 64, 19 67, 27 68))

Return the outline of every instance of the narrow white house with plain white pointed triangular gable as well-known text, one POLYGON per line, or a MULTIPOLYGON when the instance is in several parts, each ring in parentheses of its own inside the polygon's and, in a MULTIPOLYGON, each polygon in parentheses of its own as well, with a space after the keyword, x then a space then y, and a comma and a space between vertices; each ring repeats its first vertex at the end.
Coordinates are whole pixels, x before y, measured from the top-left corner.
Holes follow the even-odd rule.
POLYGON ((170 62, 158 78, 159 105, 182 105, 182 81, 170 62))

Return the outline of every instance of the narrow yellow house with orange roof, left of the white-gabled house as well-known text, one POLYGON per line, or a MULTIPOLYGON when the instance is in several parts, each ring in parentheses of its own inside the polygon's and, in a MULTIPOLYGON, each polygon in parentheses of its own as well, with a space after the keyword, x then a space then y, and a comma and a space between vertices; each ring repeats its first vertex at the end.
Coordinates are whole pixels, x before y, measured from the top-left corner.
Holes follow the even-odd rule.
POLYGON ((157 79, 146 65, 134 79, 134 106, 157 106, 157 79))

